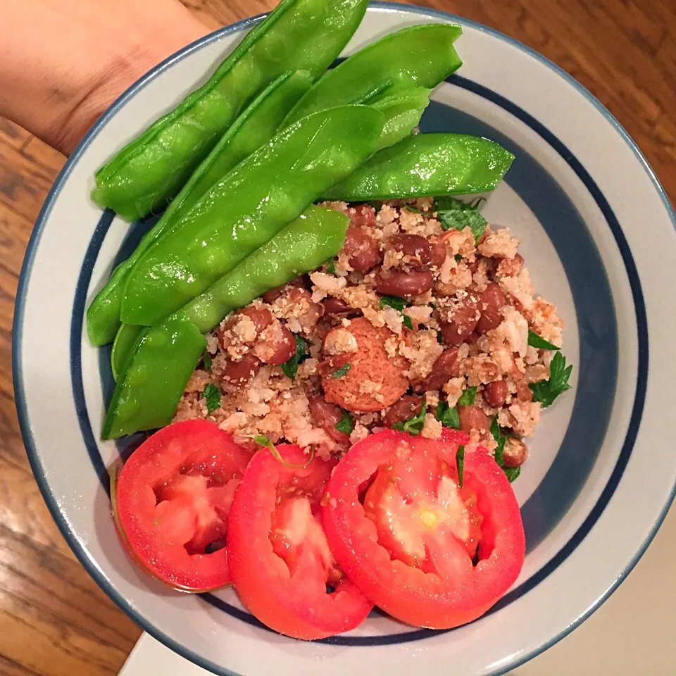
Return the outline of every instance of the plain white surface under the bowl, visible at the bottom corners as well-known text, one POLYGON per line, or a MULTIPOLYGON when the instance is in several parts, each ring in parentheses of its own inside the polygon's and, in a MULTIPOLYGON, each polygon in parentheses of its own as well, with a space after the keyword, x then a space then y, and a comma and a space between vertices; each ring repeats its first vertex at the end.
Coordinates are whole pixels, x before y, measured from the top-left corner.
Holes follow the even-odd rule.
MULTIPOLYGON (((599 552, 599 556, 603 556, 599 552)), ((620 588, 587 622, 511 676, 676 674, 676 507, 620 588)), ((143 634, 120 676, 206 676, 143 634)))

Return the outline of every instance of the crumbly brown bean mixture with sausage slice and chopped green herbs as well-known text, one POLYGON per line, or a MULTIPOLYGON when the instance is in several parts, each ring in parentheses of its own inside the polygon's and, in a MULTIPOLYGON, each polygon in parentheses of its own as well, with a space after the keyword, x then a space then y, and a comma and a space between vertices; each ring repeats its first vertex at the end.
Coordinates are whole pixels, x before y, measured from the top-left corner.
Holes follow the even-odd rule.
POLYGON ((503 465, 519 467, 542 407, 529 386, 553 354, 529 334, 561 346, 563 328, 534 296, 519 240, 444 229, 430 198, 322 206, 351 220, 342 251, 208 334, 175 420, 323 457, 384 427, 432 439, 458 427, 489 451, 500 430, 503 465))

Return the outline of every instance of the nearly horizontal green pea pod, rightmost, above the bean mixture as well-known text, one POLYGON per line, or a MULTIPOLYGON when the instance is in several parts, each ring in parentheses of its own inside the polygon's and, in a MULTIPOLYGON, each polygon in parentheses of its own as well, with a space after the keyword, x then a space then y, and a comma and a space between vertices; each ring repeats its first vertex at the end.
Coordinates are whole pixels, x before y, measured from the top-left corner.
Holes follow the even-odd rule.
POLYGON ((378 151, 324 199, 363 201, 493 190, 514 159, 488 139, 418 134, 378 151))

